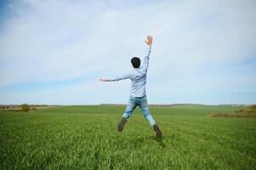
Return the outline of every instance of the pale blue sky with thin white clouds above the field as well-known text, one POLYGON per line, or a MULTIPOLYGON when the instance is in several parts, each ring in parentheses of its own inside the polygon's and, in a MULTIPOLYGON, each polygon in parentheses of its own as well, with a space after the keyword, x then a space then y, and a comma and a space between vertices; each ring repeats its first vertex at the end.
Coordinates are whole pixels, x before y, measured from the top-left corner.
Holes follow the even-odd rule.
POLYGON ((131 70, 154 37, 150 104, 255 104, 256 3, 1 1, 0 104, 127 103, 131 70))

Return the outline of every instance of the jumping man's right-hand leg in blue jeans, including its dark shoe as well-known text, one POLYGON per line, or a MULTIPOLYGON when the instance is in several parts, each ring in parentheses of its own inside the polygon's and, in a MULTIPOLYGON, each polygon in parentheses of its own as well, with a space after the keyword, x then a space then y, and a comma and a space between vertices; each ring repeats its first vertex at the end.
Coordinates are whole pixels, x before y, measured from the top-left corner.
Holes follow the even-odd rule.
POLYGON ((146 96, 139 100, 139 108, 143 112, 143 115, 145 116, 145 118, 150 122, 151 127, 153 127, 153 129, 156 133, 156 136, 159 137, 159 138, 162 137, 161 130, 157 126, 154 118, 151 116, 151 113, 150 113, 150 110, 149 110, 149 107, 148 107, 148 104, 147 104, 146 96))

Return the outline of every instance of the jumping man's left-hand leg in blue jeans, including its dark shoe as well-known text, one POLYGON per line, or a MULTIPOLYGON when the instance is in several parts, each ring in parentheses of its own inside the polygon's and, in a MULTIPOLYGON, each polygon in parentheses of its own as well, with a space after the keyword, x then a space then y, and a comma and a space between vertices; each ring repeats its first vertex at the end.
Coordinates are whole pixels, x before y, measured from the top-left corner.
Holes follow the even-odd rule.
POLYGON ((133 114, 136 106, 137 106, 136 99, 133 97, 130 97, 130 99, 128 101, 128 105, 126 107, 126 111, 123 113, 122 120, 121 120, 121 122, 119 122, 118 127, 117 127, 117 130, 119 132, 122 132, 125 122, 127 122, 128 118, 133 114))

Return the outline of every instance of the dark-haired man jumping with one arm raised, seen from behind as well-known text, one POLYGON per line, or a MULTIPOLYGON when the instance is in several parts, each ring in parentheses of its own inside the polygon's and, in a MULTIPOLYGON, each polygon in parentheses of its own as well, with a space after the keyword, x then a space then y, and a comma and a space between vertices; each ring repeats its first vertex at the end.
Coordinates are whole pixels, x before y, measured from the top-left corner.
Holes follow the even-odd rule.
POLYGON ((128 121, 129 116, 133 114, 134 109, 139 105, 139 108, 143 112, 145 118, 150 122, 151 127, 153 127, 156 137, 161 138, 162 132, 157 126, 155 120, 151 116, 151 113, 148 108, 146 94, 145 94, 145 83, 146 83, 146 73, 149 65, 149 59, 151 54, 151 45, 152 45, 153 37, 148 36, 147 41, 145 43, 148 45, 147 53, 144 58, 144 63, 140 66, 140 59, 138 57, 134 57, 131 59, 131 63, 134 66, 134 69, 131 73, 124 75, 122 77, 116 77, 111 79, 100 79, 102 82, 114 82, 119 80, 124 80, 129 78, 132 82, 132 88, 130 90, 130 99, 128 101, 128 105, 126 111, 122 115, 122 120, 118 124, 117 130, 122 132, 125 122, 128 121))

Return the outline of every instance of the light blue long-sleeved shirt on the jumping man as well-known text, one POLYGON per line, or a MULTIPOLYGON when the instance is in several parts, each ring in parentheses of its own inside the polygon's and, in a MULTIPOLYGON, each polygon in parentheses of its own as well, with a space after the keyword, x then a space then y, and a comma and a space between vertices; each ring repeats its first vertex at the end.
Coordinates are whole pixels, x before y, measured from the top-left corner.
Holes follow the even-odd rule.
POLYGON ((145 84, 146 84, 146 72, 149 65, 149 59, 151 54, 151 47, 147 48, 143 65, 139 68, 134 68, 130 73, 121 77, 115 77, 108 79, 110 82, 130 79, 132 87, 130 90, 130 96, 132 97, 143 97, 145 96, 145 84))

